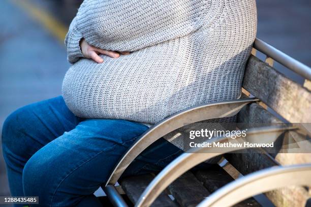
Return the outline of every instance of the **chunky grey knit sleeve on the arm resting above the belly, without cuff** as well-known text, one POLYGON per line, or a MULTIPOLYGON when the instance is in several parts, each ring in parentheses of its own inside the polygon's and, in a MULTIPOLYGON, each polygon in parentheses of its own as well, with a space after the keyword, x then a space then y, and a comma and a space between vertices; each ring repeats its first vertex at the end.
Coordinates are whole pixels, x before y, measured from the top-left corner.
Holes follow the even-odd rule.
MULTIPOLYGON (((185 36, 202 26, 209 11, 206 0, 85 0, 76 30, 96 47, 135 51, 185 36)), ((78 37, 75 37, 77 40, 78 37)))

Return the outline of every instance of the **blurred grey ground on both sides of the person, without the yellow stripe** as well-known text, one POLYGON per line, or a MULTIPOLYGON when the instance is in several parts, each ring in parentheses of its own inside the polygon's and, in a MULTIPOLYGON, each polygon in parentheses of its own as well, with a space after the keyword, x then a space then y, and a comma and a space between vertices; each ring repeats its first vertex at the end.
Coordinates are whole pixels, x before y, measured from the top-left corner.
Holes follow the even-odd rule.
MULTIPOLYGON (((0 19, 5 20, 0 22, 0 131, 5 117, 13 110, 60 95, 61 81, 69 67, 63 42, 46 30, 38 19, 30 17, 29 11, 11 1, 0 1, 0 19)), ((65 25, 69 24, 79 2, 23 1, 48 10, 65 25)), ((311 65, 309 0, 258 0, 257 5, 258 37, 311 65)), ((0 195, 9 195, 2 156, 0 195)))

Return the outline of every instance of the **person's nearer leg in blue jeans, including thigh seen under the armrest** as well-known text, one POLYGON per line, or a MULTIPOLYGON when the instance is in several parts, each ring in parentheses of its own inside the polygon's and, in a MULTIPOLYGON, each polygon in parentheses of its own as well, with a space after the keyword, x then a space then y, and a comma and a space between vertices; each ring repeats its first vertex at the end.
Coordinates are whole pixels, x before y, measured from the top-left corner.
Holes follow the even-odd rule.
MULTIPOLYGON (((43 205, 77 205, 107 181, 115 164, 147 129, 127 120, 80 122, 28 160, 23 170, 24 194, 39 195, 43 205)), ((176 151, 180 152, 162 139, 133 162, 127 175, 158 171, 176 151)))

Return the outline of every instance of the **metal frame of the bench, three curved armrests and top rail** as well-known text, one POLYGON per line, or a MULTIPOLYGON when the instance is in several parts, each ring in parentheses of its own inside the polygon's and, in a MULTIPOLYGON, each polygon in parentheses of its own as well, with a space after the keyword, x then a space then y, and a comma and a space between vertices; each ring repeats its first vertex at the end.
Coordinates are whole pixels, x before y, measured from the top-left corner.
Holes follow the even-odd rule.
MULTIPOLYGON (((265 62, 270 66, 273 65, 273 60, 276 60, 277 62, 288 67, 290 70, 301 75, 303 78, 306 79, 305 86, 311 80, 311 70, 308 66, 273 48, 267 43, 256 39, 254 42, 254 49, 252 51, 253 55, 256 55, 256 50, 266 55, 265 62)), ((140 136, 140 138, 134 143, 134 145, 128 150, 125 156, 123 156, 119 163, 116 165, 107 183, 103 185, 102 188, 104 189, 110 200, 113 202, 114 206, 127 206, 126 202, 118 194, 114 185, 116 184, 122 173, 130 165, 130 163, 149 145, 160 139, 162 136, 184 125, 208 119, 234 116, 248 103, 259 101, 260 100, 257 98, 243 98, 232 101, 213 102, 180 111, 164 119, 163 121, 152 126, 149 130, 147 130, 144 134, 140 136)), ((255 128, 252 131, 248 131, 247 136, 248 139, 253 139, 257 141, 260 141, 260 139, 262 139, 263 134, 266 134, 266 137, 268 137, 268 139, 276 139, 277 135, 284 132, 285 130, 288 130, 288 127, 282 128, 273 126, 268 128, 255 128)), ((227 138, 228 137, 219 137, 218 142, 227 142, 227 138)), ((193 151, 190 153, 184 153, 176 158, 173 162, 171 162, 166 168, 164 168, 145 189, 135 206, 149 206, 170 183, 172 183, 185 171, 209 158, 226 153, 224 151, 222 153, 200 153, 200 150, 203 149, 193 149, 193 151)), ((228 149, 227 152, 231 152, 234 150, 237 149, 228 149)), ((307 174, 305 172, 310 173, 309 165, 261 170, 259 172, 252 173, 251 175, 246 176, 243 179, 238 179, 231 184, 228 184, 227 186, 221 188, 221 190, 216 191, 208 199, 202 201, 199 206, 229 206, 252 195, 288 185, 288 182, 286 184, 285 182, 271 182, 273 181, 273 179, 278 179, 278 181, 282 181, 282 179, 287 179, 289 178, 289 176, 295 176, 295 178, 300 178, 293 179, 291 184, 309 185, 310 178, 306 177, 307 174), (266 180, 265 177, 267 177, 266 180), (254 186, 254 182, 258 180, 269 183, 270 188, 254 186), (250 193, 245 193, 244 195, 235 197, 235 199, 232 199, 229 204, 227 203, 228 201, 224 201, 224 199, 222 199, 222 197, 225 197, 225 195, 231 196, 233 194, 236 195, 235 192, 245 192, 246 187, 241 187, 242 184, 245 184, 246 187, 254 187, 255 190, 250 191, 250 193), (240 189, 242 189, 242 191, 239 191, 240 189)))

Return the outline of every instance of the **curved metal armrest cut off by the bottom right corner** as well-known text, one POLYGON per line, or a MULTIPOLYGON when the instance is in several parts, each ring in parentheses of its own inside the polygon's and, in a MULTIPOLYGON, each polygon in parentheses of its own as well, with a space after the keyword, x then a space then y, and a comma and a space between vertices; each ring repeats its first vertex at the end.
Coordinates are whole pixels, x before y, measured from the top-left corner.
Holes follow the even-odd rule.
POLYGON ((310 175, 311 163, 259 170, 220 188, 197 206, 233 206, 246 198, 277 188, 308 186, 311 184, 310 175))

